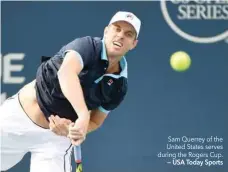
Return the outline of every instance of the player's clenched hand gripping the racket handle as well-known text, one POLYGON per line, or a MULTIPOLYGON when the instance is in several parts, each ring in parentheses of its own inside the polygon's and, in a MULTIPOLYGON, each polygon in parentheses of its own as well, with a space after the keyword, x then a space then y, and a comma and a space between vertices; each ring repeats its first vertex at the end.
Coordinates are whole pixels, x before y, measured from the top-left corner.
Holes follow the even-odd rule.
POLYGON ((69 135, 73 145, 80 145, 86 138, 89 118, 78 118, 75 124, 70 124, 69 135))

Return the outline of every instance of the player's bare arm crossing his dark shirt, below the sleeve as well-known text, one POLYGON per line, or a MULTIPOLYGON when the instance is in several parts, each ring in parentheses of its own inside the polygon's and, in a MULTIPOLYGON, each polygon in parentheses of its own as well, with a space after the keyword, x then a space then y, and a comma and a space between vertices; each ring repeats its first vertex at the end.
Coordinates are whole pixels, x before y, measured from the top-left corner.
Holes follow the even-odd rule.
POLYGON ((90 116, 78 77, 82 66, 77 56, 78 53, 75 51, 70 51, 65 55, 58 71, 58 79, 64 96, 71 103, 78 115, 78 119, 75 122, 77 125, 75 127, 81 132, 83 138, 86 135, 90 116))

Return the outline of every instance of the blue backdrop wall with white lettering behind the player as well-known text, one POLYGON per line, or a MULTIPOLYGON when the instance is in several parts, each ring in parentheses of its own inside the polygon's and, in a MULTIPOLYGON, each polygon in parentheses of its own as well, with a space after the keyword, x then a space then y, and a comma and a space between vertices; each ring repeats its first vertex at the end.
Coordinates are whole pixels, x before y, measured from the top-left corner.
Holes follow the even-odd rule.
MULTIPOLYGON (((227 0, 1 4, 2 102, 35 78, 42 55, 102 37, 117 11, 141 19, 129 92, 83 144, 85 172, 227 172, 227 0), (191 57, 184 72, 170 66, 177 51, 191 57)), ((9 172, 29 172, 29 158, 9 172)))

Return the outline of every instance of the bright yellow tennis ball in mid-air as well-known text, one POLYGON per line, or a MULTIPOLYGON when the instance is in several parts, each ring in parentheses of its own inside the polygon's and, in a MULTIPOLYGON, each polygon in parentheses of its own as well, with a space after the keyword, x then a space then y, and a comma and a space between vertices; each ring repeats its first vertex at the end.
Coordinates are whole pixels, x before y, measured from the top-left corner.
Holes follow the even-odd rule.
POLYGON ((191 65, 190 56, 184 51, 177 51, 170 57, 171 67, 178 72, 186 71, 191 65))

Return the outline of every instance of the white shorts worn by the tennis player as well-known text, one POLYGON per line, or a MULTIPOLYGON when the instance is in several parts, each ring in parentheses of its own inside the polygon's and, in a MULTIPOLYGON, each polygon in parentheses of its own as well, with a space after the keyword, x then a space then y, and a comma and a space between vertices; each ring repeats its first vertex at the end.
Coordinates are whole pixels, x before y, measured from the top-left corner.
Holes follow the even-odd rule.
POLYGON ((70 172, 70 140, 57 136, 29 119, 22 109, 18 95, 0 106, 1 166, 6 171, 31 152, 30 172, 70 172))

